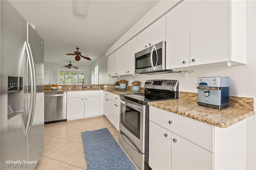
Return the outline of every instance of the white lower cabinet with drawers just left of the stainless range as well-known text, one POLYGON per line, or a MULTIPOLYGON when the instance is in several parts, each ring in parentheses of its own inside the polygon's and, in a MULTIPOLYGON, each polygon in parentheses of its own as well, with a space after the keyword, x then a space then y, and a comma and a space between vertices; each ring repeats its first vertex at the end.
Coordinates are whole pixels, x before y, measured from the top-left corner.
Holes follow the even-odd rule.
POLYGON ((110 92, 104 91, 103 112, 107 119, 114 125, 119 131, 119 119, 120 119, 120 102, 119 96, 110 92), (115 100, 112 101, 112 100, 115 100), (117 101, 118 100, 118 103, 117 101))

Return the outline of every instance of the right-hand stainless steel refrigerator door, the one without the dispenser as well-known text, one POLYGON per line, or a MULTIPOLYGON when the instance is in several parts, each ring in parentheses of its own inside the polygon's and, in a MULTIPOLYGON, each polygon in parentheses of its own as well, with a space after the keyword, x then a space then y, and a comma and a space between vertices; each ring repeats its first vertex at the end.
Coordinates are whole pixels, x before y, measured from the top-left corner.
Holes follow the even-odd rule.
MULTIPOLYGON (((28 44, 36 72, 36 102, 32 124, 28 133, 28 160, 40 160, 44 152, 44 40, 28 24, 28 44)), ((36 164, 28 164, 34 169, 36 164)))

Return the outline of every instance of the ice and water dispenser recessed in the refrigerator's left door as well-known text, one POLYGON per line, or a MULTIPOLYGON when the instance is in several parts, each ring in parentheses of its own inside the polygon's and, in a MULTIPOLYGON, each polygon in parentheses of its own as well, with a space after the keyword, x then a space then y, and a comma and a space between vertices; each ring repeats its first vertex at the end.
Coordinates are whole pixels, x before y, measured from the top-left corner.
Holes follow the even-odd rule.
POLYGON ((8 76, 8 119, 23 112, 23 78, 8 76))

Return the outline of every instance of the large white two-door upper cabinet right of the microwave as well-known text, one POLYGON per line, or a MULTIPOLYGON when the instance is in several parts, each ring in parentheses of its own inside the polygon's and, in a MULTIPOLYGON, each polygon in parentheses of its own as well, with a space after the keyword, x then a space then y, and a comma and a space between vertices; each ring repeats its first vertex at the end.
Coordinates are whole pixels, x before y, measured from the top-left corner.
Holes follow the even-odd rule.
POLYGON ((181 2, 167 14, 168 69, 181 71, 227 66, 227 63, 246 64, 246 1, 192 0, 190 15, 188 3, 181 2), (184 57, 188 56, 188 16, 190 57, 184 57), (175 27, 172 22, 179 26, 175 27))

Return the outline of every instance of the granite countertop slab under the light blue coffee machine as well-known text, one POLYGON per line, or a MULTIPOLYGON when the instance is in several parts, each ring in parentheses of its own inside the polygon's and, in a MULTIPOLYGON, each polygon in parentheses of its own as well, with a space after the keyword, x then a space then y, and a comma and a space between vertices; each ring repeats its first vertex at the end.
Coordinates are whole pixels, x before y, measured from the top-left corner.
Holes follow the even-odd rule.
POLYGON ((229 127, 255 114, 253 109, 239 108, 235 106, 230 106, 221 110, 213 109, 210 107, 199 106, 194 100, 182 98, 148 102, 148 105, 221 128, 229 127))

